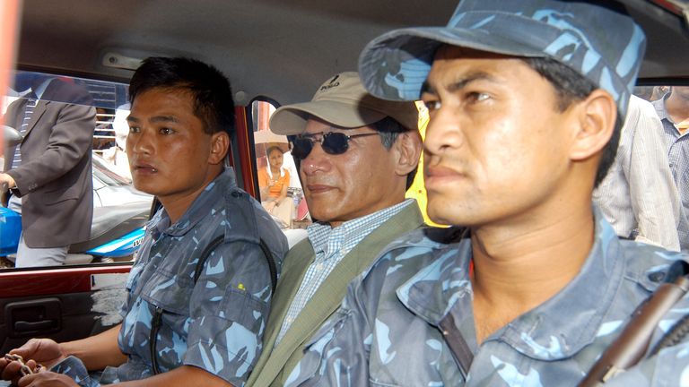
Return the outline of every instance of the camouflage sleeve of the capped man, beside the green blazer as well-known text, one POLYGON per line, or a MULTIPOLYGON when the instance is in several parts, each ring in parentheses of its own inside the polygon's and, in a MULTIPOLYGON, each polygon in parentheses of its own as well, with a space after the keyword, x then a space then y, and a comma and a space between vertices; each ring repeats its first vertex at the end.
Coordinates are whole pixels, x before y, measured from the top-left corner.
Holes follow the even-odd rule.
POLYGON ((371 340, 388 262, 379 261, 364 280, 350 283, 342 305, 307 343, 285 387, 369 385, 371 340))

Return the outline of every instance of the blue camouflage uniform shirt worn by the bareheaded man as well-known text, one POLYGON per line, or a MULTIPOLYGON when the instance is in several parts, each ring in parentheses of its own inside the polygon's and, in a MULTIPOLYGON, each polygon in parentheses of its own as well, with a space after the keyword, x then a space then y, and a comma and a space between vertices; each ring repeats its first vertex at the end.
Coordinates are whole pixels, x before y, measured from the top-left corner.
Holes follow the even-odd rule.
MULTIPOLYGON (((237 187, 227 169, 205 188, 175 224, 164 210, 149 222, 129 274, 121 314, 122 366, 108 367, 100 383, 153 375, 150 335, 156 307, 163 309, 155 343, 161 372, 196 366, 235 386, 249 376, 261 352, 271 298, 271 277, 262 238, 279 271, 287 242, 260 203, 237 187), (194 282, 196 262, 217 236, 223 243, 208 256, 194 282)), ((54 371, 95 386, 81 361, 68 357, 54 371)))

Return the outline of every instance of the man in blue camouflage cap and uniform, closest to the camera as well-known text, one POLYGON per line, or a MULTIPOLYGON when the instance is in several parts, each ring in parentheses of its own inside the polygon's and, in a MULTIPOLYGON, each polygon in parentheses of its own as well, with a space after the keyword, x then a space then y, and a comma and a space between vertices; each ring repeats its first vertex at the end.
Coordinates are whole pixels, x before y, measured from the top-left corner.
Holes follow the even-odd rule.
MULTIPOLYGON (((371 41, 366 88, 430 110, 429 215, 467 228, 388 245, 287 385, 578 383, 670 263, 686 259, 618 240, 591 204, 644 46, 618 4, 556 0, 464 0, 447 27, 371 41)), ((608 383, 679 385, 686 349, 608 383)))

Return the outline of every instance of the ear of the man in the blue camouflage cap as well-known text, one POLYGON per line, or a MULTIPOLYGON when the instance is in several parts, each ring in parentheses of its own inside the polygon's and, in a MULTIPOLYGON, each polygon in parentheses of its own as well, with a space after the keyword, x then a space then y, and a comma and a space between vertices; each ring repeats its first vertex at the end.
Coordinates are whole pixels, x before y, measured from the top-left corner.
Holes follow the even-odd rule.
POLYGON ((580 161, 596 155, 610 141, 615 130, 617 104, 607 91, 597 89, 576 105, 578 125, 570 157, 580 161))

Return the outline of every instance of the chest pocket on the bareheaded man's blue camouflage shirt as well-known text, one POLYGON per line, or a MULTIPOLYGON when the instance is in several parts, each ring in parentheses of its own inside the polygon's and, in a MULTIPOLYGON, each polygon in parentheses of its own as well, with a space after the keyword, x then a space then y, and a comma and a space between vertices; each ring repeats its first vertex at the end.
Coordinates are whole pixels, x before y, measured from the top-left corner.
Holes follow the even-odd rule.
POLYGON ((144 281, 140 293, 144 301, 168 313, 189 314, 189 299, 194 290, 191 278, 157 269, 145 279, 142 275, 140 281, 144 281))

